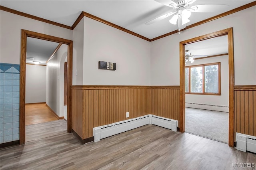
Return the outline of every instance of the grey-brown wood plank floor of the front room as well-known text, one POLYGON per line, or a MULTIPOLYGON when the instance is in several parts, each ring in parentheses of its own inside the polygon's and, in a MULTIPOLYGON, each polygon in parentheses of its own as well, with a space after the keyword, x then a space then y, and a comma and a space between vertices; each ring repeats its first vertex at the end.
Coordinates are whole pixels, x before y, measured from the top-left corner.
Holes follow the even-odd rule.
MULTIPOLYGON (((59 123, 64 130, 65 121, 59 120, 59 123)), ((42 123, 39 128, 43 128, 43 124, 49 126, 49 123, 42 123)), ((60 131, 22 146, 4 148, 0 157, 1 170, 229 170, 238 169, 233 168, 233 163, 256 163, 255 154, 155 125, 84 145, 73 134, 60 131)))

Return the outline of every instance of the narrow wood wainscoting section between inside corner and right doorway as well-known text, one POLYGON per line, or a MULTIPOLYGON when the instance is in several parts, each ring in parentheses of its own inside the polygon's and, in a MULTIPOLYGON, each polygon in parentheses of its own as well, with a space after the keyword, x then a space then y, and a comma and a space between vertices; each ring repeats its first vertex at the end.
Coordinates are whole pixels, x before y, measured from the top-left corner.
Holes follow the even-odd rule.
POLYGON ((151 86, 151 114, 178 120, 180 127, 180 86, 151 86))

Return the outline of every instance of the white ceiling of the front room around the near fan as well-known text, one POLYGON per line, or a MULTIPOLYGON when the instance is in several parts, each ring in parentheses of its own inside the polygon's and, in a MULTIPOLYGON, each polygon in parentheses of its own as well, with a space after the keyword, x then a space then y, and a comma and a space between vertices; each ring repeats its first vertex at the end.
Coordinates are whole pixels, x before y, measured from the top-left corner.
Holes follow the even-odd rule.
MULTIPOLYGON (((253 0, 196 0, 191 6, 198 4, 227 6, 214 8, 214 12, 210 13, 193 12, 187 26, 250 2, 253 0)), ((171 16, 154 24, 145 25, 146 22, 172 11, 172 8, 154 0, 1 0, 0 4, 67 26, 72 26, 84 11, 149 39, 177 30, 176 25, 168 22, 171 16)))

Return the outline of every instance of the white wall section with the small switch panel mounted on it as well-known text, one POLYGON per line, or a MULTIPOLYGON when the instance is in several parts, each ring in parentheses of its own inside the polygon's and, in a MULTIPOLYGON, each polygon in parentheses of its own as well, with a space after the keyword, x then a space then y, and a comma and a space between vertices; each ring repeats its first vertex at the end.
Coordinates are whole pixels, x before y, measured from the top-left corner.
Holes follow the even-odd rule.
POLYGON ((150 85, 150 42, 84 17, 83 85, 150 85), (116 71, 98 69, 116 63, 116 71))

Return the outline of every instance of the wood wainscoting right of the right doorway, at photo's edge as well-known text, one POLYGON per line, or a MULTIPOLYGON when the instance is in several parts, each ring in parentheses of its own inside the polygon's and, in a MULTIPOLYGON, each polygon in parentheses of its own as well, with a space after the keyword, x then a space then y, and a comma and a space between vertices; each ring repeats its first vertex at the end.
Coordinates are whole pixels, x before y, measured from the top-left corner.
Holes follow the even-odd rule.
POLYGON ((234 138, 236 132, 256 136, 256 85, 234 86, 234 138))

